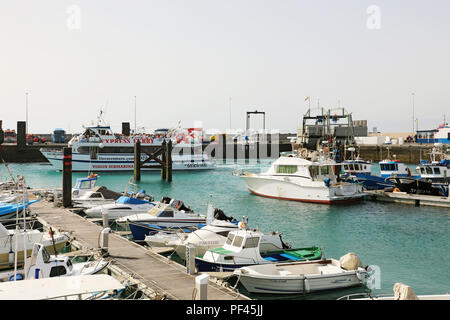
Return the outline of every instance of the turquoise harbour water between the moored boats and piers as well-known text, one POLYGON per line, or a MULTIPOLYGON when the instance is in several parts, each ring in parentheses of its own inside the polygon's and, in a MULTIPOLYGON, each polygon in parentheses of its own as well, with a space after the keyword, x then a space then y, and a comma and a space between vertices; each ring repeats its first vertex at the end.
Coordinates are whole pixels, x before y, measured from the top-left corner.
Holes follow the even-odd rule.
MULTIPOLYGON (((250 194, 244 182, 232 176, 237 168, 259 172, 269 165, 270 162, 223 164, 212 171, 177 171, 170 184, 161 180, 159 172, 143 172, 139 188, 157 200, 162 196, 181 199, 201 213, 205 212, 211 197, 216 208, 228 216, 247 216, 251 228, 279 231, 293 247, 320 245, 326 257, 339 259, 355 252, 363 264, 380 268, 380 288, 373 290, 375 294, 392 294, 396 282, 410 285, 416 294, 450 292, 450 209, 371 201, 327 206, 268 199, 250 194)), ((61 187, 61 173, 49 165, 10 164, 9 167, 15 175, 24 175, 31 187, 61 187)), ((377 169, 374 170, 376 173, 377 169)), ((0 178, 5 179, 7 175, 1 165, 0 178)), ((74 173, 73 182, 85 175, 74 173)), ((130 177, 131 172, 101 173, 98 185, 123 191, 130 177)), ((347 292, 316 294, 309 298, 337 298, 347 292)))

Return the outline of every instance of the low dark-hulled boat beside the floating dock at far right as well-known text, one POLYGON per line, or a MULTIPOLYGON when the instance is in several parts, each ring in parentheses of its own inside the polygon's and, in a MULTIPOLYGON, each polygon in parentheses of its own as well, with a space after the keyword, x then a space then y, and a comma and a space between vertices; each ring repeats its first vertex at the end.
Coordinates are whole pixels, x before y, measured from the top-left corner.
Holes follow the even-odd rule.
POLYGON ((438 184, 417 178, 404 178, 392 176, 386 178, 395 185, 395 192, 406 192, 408 194, 423 194, 429 196, 448 197, 448 184, 438 184))

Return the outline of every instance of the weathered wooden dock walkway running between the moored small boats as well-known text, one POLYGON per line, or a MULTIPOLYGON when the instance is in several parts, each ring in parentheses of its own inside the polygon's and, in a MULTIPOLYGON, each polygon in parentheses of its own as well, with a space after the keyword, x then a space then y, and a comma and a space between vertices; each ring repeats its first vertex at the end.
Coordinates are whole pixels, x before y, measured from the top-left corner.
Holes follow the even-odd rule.
MULTIPOLYGON (((38 219, 53 228, 71 233, 71 236, 83 245, 83 250, 98 250, 102 226, 67 209, 54 207, 53 203, 44 200, 33 204, 31 210, 38 219)), ((113 265, 168 299, 192 300, 195 276, 187 274, 184 266, 118 234, 109 234, 108 242, 113 265)), ((236 299, 248 298, 212 281, 209 282, 208 300, 236 299)))

